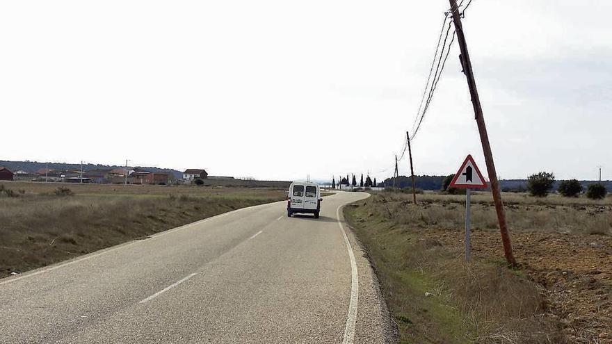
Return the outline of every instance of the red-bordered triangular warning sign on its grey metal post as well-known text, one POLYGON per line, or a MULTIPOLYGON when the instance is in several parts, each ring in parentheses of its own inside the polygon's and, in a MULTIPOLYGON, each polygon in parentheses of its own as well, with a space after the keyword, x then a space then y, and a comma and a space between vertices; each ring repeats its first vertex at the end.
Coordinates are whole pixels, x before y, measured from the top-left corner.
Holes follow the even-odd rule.
POLYGON ((472 200, 472 189, 487 188, 483 174, 478 170, 472 155, 468 155, 461 167, 453 177, 449 188, 462 188, 465 190, 465 261, 470 259, 470 202, 472 200))

